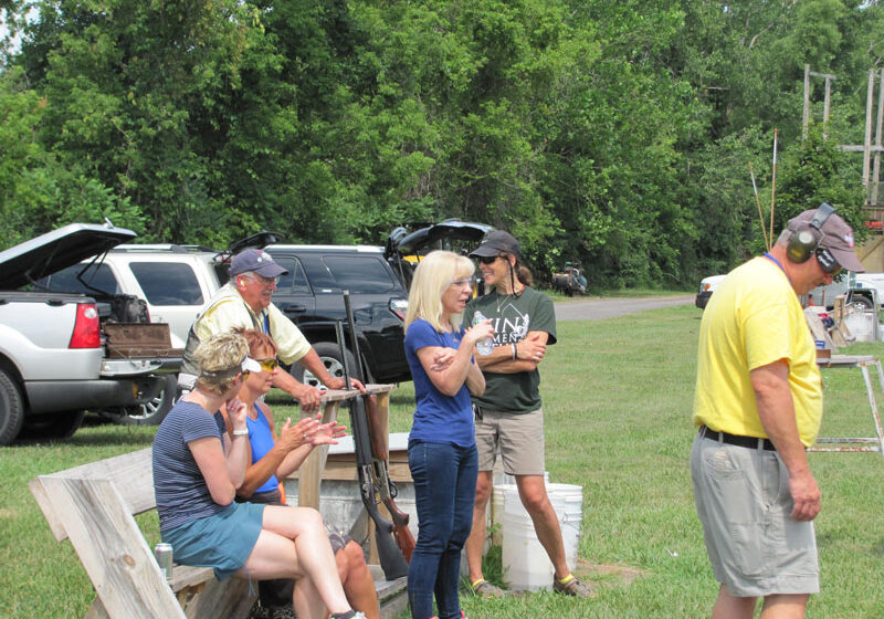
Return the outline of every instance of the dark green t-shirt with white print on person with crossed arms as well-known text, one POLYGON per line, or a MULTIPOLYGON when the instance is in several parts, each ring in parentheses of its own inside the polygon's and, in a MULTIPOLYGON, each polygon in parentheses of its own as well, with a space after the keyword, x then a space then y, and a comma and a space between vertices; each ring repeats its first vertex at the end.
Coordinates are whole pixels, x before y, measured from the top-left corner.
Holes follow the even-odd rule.
MULTIPOLYGON (((494 326, 494 345, 508 346, 525 339, 533 331, 549 334, 547 344, 556 343, 556 313, 552 301, 544 293, 526 287, 520 295, 498 295, 496 291, 472 300, 463 313, 463 324, 473 324, 473 315, 482 312, 494 326)), ((485 392, 473 396, 480 407, 504 412, 524 413, 540 408, 540 373, 537 369, 518 374, 484 371, 485 392)))

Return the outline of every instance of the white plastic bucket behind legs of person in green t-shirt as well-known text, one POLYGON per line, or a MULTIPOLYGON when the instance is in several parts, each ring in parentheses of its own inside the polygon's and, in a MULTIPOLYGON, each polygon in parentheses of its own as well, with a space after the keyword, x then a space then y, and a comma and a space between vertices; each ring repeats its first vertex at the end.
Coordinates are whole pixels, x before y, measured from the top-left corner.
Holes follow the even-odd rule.
MULTIPOLYGON (((503 510, 504 578, 514 590, 548 589, 552 586, 552 564, 537 539, 534 523, 522 505, 516 486, 505 486, 503 510)), ((579 485, 547 484, 547 494, 559 518, 568 567, 577 564, 582 521, 583 490, 579 485)))

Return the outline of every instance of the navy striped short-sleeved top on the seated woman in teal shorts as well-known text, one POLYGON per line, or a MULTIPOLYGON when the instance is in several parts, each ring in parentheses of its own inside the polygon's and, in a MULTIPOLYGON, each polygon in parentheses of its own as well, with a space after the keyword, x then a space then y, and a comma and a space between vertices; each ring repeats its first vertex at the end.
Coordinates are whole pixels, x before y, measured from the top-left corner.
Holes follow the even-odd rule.
POLYGON ((220 412, 212 415, 201 406, 183 400, 175 405, 160 423, 154 437, 154 495, 161 532, 212 516, 227 506, 212 500, 206 479, 188 448, 191 441, 215 437, 223 449, 221 436, 225 431, 220 412))

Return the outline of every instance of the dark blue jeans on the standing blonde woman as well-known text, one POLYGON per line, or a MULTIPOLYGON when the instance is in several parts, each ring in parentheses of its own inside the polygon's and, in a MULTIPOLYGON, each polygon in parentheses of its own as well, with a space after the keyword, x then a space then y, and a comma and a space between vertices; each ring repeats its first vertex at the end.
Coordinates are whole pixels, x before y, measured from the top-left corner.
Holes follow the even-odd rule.
POLYGON ((410 441, 408 465, 414 480, 418 542, 408 567, 408 599, 413 619, 461 616, 457 580, 461 549, 473 526, 478 455, 476 447, 410 441))

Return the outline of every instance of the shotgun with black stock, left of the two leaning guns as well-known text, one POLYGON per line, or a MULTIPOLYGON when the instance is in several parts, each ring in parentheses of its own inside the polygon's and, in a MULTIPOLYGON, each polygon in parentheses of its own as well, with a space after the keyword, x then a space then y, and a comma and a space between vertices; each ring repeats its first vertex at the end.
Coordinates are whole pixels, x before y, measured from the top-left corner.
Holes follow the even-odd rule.
MULTIPOLYGON (((345 291, 345 300, 349 303, 348 293, 345 291)), ((340 348, 340 358, 344 365, 344 385, 349 391, 350 375, 347 367, 347 350, 344 346, 344 329, 340 322, 335 323, 335 332, 340 348)), ((402 553, 393 542, 393 523, 385 518, 378 512, 378 504, 375 499, 375 483, 371 475, 371 443, 368 437, 368 419, 366 406, 362 398, 351 398, 348 400, 350 408, 350 426, 352 431, 352 443, 356 452, 356 471, 359 475, 359 494, 362 499, 366 512, 375 522, 375 542, 378 545, 378 557, 380 567, 387 580, 394 580, 408 574, 408 564, 402 553)))

